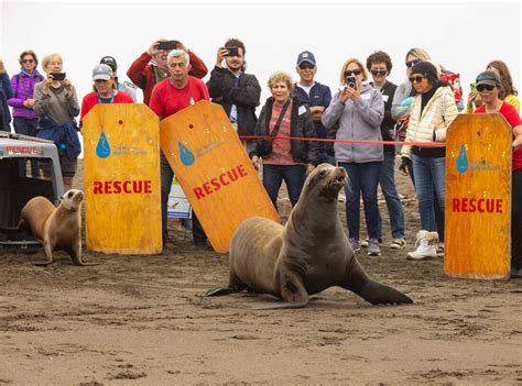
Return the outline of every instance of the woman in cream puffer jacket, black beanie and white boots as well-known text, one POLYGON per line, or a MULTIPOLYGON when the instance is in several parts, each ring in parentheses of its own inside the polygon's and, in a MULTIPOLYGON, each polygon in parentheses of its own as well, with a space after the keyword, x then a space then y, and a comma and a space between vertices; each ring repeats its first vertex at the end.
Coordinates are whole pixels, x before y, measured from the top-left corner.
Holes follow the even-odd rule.
MULTIPOLYGON (((437 68, 431 62, 414 65, 410 81, 416 95, 412 103, 406 142, 445 142, 446 130, 458 114, 449 84, 439 80, 437 68)), ((438 206, 444 208, 446 148, 404 145, 401 156, 401 172, 407 174, 407 165, 413 167, 422 227, 417 234, 417 249, 410 252, 407 258, 436 257, 437 243, 431 238, 437 231, 433 196, 435 194, 438 206)), ((444 221, 444 211, 442 216, 444 221)), ((438 229, 438 232, 437 238, 444 240, 444 229, 438 229)))

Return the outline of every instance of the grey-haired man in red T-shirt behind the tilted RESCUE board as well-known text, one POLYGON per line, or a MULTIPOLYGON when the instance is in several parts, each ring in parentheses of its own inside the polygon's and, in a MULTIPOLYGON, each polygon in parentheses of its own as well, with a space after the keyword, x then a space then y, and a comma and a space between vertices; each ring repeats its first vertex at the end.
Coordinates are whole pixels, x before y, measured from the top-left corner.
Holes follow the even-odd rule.
MULTIPOLYGON (((160 81, 157 86, 154 87, 150 100, 150 108, 157 117, 160 117, 160 120, 175 114, 180 110, 183 110, 199 100, 210 99, 205 84, 200 79, 189 76, 189 58, 191 54, 183 49, 174 49, 168 54, 167 68, 170 77, 160 81)), ((163 152, 160 153, 160 157, 161 218, 163 245, 165 245, 168 238, 166 227, 167 202, 174 172, 163 152)), ((207 245, 207 235, 195 213, 193 213, 192 232, 195 245, 207 245)))

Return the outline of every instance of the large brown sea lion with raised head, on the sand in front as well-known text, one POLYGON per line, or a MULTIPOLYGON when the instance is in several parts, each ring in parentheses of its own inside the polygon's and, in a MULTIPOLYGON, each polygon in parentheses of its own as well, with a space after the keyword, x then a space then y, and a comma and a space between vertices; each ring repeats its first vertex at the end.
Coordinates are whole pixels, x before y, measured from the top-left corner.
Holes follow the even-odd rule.
POLYGON ((228 287, 206 296, 248 289, 285 300, 269 308, 301 308, 308 295, 340 286, 372 305, 413 302, 371 280, 357 261, 337 211, 346 183, 344 168, 320 164, 306 179, 285 227, 259 217, 244 220, 230 242, 228 287))

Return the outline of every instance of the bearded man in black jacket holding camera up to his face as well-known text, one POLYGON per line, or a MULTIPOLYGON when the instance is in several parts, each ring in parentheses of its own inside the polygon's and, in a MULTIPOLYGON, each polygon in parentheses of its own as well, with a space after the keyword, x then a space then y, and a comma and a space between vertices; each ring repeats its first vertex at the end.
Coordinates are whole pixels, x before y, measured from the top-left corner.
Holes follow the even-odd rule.
POLYGON ((240 40, 229 38, 224 47, 218 48, 216 66, 207 82, 213 102, 222 106, 238 135, 253 135, 258 122, 255 108, 261 97, 255 76, 244 73, 246 52, 240 40))

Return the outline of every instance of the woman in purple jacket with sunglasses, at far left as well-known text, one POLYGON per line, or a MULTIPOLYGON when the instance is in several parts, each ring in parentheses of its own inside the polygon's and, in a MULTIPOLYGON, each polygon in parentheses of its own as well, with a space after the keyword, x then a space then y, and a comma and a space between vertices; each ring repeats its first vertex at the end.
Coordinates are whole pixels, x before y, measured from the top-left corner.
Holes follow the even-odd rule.
POLYGON ((34 112, 34 85, 44 80, 44 77, 36 70, 39 59, 32 49, 20 54, 19 63, 22 69, 11 77, 12 98, 8 99, 8 104, 13 108, 14 131, 24 135, 36 135, 37 118, 34 112))

